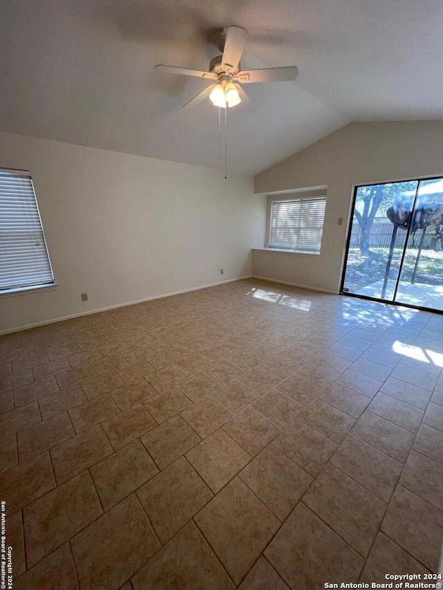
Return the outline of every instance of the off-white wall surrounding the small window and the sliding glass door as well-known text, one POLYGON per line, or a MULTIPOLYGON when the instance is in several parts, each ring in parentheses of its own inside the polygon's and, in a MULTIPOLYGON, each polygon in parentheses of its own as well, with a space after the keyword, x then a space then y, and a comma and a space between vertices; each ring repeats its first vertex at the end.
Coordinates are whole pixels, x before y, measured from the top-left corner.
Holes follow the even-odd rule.
POLYGON ((327 185, 327 205, 319 256, 253 252, 253 275, 337 293, 354 185, 438 175, 443 120, 342 127, 255 177, 257 193, 327 185))

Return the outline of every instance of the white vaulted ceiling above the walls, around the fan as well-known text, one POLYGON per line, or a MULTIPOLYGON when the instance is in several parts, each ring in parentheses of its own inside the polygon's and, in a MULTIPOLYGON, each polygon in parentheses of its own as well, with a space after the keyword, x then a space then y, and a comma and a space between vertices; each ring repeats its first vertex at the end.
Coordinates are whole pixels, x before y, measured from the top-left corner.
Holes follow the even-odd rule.
POLYGON ((201 166, 217 109, 181 105, 203 80, 210 30, 250 38, 242 68, 296 64, 228 111, 228 165, 255 173, 347 122, 443 118, 441 0, 3 0, 0 129, 201 166))

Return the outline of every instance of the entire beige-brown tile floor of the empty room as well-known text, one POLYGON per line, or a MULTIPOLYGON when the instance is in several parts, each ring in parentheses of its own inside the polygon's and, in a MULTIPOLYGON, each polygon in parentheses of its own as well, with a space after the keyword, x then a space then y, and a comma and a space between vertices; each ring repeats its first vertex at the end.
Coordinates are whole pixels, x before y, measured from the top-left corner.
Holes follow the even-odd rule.
POLYGON ((437 572, 443 316, 246 280, 0 337, 19 589, 437 572))

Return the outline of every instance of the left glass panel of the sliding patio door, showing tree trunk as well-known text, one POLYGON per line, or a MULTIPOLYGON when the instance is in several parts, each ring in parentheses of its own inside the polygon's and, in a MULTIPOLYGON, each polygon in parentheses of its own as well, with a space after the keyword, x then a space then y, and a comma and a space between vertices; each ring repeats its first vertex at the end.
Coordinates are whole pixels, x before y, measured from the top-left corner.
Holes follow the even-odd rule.
POLYGON ((342 293, 392 302, 418 181, 358 187, 342 293))

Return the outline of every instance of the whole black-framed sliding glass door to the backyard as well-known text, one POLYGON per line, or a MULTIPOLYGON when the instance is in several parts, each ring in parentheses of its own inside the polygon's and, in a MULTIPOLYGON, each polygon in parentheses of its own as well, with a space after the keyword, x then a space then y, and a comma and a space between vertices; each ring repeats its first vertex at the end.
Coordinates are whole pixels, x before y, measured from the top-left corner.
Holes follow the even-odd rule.
POLYGON ((341 292, 443 311, 443 178, 357 187, 341 292))

